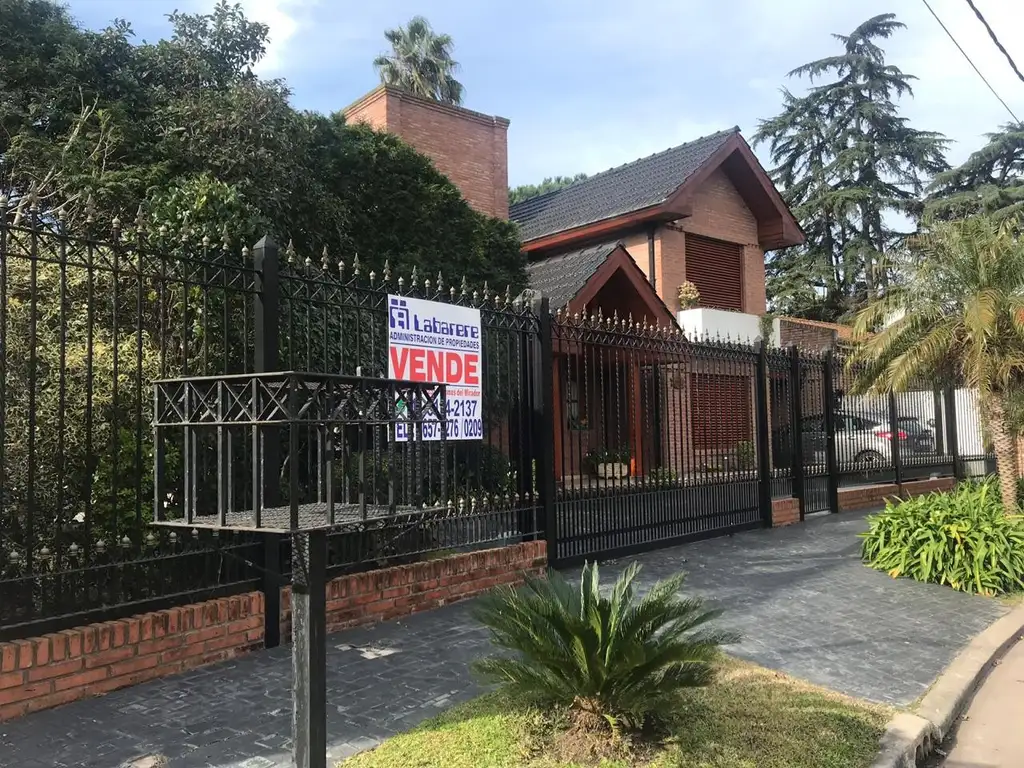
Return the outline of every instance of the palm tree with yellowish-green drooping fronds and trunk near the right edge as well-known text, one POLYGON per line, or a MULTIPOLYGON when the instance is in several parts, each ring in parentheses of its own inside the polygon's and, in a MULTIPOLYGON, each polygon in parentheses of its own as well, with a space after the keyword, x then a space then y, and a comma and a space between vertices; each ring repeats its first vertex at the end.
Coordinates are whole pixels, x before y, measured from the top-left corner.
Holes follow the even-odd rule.
POLYGON ((857 315, 849 364, 859 391, 900 391, 921 377, 977 389, 1007 513, 1017 507, 1008 412, 1024 377, 1024 244, 1009 220, 936 222, 912 239, 905 280, 857 315), (878 331, 869 335, 872 331, 878 331))

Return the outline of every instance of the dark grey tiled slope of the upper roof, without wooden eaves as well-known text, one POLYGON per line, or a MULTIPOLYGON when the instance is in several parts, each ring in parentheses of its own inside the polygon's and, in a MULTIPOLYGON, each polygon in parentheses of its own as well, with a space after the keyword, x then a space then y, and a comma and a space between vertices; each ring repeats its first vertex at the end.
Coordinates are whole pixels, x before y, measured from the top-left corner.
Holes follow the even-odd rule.
POLYGON ((509 218, 525 242, 664 203, 739 128, 641 158, 516 203, 509 218))

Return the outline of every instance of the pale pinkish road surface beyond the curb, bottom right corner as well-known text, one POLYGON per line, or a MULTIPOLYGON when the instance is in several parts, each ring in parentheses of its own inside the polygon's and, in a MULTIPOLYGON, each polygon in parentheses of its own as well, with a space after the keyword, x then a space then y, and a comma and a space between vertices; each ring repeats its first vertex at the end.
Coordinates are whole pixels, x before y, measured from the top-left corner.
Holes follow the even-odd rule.
POLYGON ((1024 765, 1024 642, 1018 640, 975 694, 941 768, 1024 765))

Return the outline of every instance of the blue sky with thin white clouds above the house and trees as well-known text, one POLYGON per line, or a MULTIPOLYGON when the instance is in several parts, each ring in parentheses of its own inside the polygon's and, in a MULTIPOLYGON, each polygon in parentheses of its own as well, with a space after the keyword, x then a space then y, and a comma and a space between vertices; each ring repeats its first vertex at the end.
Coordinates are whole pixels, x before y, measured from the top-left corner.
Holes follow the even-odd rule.
MULTIPOLYGON (((999 94, 1024 118, 1016 78, 963 0, 930 0, 999 94)), ((213 0, 71 0, 83 25, 114 17, 139 39, 167 34, 164 14, 213 0)), ((976 0, 1024 67, 1024 3, 976 0)), ((750 136, 775 114, 785 73, 838 52, 834 32, 895 12, 908 29, 890 60, 920 78, 904 115, 955 141, 952 161, 1010 120, 921 0, 242 0, 270 26, 261 74, 284 78, 300 109, 332 112, 378 80, 383 31, 426 15, 452 35, 464 103, 511 120, 509 180, 594 173, 738 125, 750 136)), ((806 87, 790 82, 794 89, 806 87)), ((762 154, 763 153, 759 153, 762 154)))

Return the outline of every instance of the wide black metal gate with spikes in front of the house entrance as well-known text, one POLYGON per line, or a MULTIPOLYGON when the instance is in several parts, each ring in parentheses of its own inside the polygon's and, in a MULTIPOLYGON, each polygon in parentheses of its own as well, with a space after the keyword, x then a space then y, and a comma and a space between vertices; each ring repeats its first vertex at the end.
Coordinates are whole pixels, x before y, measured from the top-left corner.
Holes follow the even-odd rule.
POLYGON ((614 316, 559 314, 551 334, 553 561, 762 524, 753 347, 614 316))

